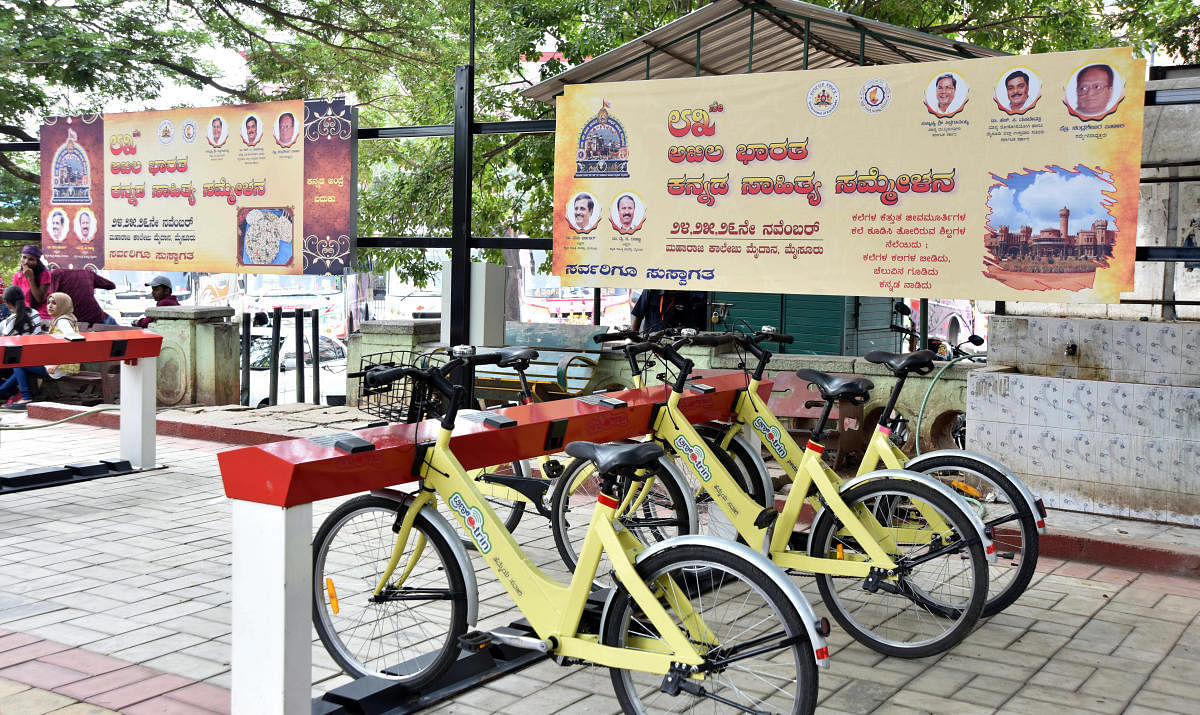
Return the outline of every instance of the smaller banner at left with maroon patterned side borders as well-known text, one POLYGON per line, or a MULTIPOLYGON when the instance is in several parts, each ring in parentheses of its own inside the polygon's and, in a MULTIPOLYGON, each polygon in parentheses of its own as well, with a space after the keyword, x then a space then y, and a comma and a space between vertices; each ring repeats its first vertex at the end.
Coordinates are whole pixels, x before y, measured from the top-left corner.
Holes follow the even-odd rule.
POLYGON ((44 120, 52 268, 341 274, 355 109, 335 100, 44 120))

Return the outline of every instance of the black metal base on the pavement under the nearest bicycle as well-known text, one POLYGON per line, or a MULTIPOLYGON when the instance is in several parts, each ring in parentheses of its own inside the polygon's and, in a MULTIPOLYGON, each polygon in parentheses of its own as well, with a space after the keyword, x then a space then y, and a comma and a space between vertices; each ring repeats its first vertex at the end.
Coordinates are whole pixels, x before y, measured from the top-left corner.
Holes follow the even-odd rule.
MULTIPOLYGON (((514 621, 496 632, 533 636, 526 620, 514 621)), ((437 680, 412 691, 383 678, 359 678, 312 701, 313 715, 403 715, 416 713, 461 692, 532 666, 548 657, 536 650, 521 650, 493 643, 484 650, 462 653, 437 680)))

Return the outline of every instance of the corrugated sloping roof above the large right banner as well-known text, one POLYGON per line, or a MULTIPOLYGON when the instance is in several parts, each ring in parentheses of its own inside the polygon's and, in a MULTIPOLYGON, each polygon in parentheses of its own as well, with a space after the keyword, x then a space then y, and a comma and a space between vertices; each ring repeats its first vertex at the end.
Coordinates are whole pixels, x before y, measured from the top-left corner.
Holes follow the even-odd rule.
POLYGON ((552 102, 568 84, 804 70, 805 37, 809 70, 1007 54, 796 0, 716 0, 521 94, 552 102))

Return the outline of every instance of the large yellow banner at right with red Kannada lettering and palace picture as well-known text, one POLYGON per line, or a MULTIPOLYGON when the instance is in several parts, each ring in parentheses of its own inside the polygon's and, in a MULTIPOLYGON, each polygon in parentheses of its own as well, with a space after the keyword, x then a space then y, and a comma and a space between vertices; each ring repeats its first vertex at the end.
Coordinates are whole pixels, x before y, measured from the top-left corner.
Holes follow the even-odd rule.
POLYGON ((1145 61, 1128 49, 569 85, 566 286, 1117 302, 1145 61))

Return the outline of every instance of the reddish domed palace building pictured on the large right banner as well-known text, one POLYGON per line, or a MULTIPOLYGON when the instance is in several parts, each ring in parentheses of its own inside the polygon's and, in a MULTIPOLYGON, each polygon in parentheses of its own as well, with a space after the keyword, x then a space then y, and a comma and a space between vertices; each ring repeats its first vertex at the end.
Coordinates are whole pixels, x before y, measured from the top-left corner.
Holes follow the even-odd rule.
POLYGON ((984 246, 1000 262, 1024 260, 1049 266, 1061 260, 1091 260, 1094 263, 1090 270, 1094 271, 1097 265, 1112 256, 1117 232, 1102 218, 1092 222, 1091 230, 1070 235, 1067 232, 1069 218, 1070 209, 1063 206, 1058 211, 1058 228, 1043 228, 1034 234, 1031 227, 1022 226, 1014 234, 1009 227, 1001 226, 986 234, 984 246))

